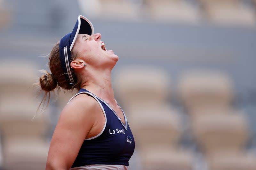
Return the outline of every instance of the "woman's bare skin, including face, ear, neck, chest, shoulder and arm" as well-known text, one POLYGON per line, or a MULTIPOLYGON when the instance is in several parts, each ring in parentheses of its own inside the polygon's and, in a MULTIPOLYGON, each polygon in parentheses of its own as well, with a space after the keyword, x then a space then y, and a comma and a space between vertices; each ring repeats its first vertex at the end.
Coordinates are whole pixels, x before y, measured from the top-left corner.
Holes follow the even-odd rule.
MULTIPOLYGON (((111 70, 118 61, 112 50, 101 48, 101 35, 78 34, 72 52, 76 59, 71 67, 82 79, 81 87, 105 100, 124 123, 111 84, 111 70), (84 66, 84 64, 86 64, 84 66)), ((80 94, 62 110, 54 130, 46 170, 67 170, 73 165, 84 139, 98 135, 104 128, 105 117, 98 102, 80 94)))

